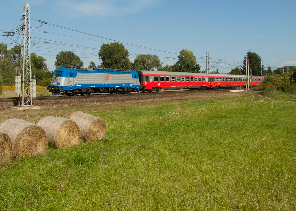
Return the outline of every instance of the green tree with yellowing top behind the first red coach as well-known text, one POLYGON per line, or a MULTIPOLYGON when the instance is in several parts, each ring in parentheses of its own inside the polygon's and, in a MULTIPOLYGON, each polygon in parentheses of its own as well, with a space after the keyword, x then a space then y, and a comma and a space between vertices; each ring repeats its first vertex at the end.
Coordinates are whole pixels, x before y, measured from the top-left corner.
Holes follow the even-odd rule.
POLYGON ((178 55, 178 61, 172 67, 177 72, 200 72, 200 65, 197 64, 196 57, 187 49, 182 49, 178 55))

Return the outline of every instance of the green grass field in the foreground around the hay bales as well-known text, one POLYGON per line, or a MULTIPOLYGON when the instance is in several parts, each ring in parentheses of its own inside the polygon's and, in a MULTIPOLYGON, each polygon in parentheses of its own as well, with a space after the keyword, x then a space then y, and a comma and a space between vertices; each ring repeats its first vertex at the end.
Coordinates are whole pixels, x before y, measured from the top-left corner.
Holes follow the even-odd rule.
MULTIPOLYGON (((242 96, 1 111, 83 111, 107 138, 2 163, 1 210, 295 210, 295 104, 242 96)), ((36 113, 38 112, 38 113, 36 113)))

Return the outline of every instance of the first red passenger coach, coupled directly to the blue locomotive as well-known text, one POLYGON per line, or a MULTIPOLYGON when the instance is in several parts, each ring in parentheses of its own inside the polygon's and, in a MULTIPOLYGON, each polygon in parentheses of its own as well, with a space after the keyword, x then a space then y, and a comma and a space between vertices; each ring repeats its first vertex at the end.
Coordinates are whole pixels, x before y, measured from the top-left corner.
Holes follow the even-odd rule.
POLYGON ((142 92, 161 89, 200 89, 210 87, 210 74, 189 72, 137 71, 142 92))

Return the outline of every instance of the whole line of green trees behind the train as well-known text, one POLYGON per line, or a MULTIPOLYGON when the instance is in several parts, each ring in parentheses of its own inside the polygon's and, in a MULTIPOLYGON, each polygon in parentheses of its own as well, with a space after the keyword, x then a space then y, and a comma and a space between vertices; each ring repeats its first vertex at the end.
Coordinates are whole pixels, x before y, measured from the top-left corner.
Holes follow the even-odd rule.
MULTIPOLYGON (((7 49, 3 43, 0 43, 0 89, 2 86, 12 86, 15 82, 15 75, 20 65, 20 46, 14 46, 10 50, 7 49)), ((163 66, 163 62, 157 55, 140 54, 136 56, 133 62, 128 58, 128 50, 122 43, 104 43, 98 53, 101 64, 96 65, 91 61, 88 68, 111 68, 122 70, 155 70, 168 72, 193 72, 205 73, 206 70, 201 71, 201 66, 198 64, 193 52, 188 49, 182 49, 178 55, 178 61, 173 65, 163 66)), ((260 56, 248 51, 246 56, 249 57, 250 75, 272 75, 287 72, 289 67, 280 67, 272 71, 269 66, 266 70, 262 64, 260 56)), ((231 69, 228 74, 245 75, 246 74, 246 56, 244 57, 242 66, 231 69)), ((31 74, 32 78, 36 79, 36 84, 39 86, 48 86, 51 83, 53 71, 49 71, 46 59, 42 56, 31 53, 31 74)), ((72 51, 60 51, 56 56, 54 63, 56 67, 76 66, 83 67, 83 61, 80 57, 75 55, 72 51)), ((294 68, 295 69, 295 68, 294 68)), ((294 70, 290 67, 290 70, 294 70)), ((210 73, 217 73, 212 71, 210 73)), ((291 76, 293 78, 293 74, 291 76)), ((290 81, 295 81, 291 79, 290 81)))

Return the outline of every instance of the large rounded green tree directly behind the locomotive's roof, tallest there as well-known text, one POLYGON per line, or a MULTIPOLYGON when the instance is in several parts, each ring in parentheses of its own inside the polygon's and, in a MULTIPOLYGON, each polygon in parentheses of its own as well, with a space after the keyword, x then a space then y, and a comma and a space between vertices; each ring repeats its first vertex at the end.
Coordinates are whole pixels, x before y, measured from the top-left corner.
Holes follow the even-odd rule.
POLYGON ((105 68, 125 69, 131 68, 131 62, 128 59, 128 50, 122 43, 104 43, 98 53, 102 60, 101 66, 105 68))

